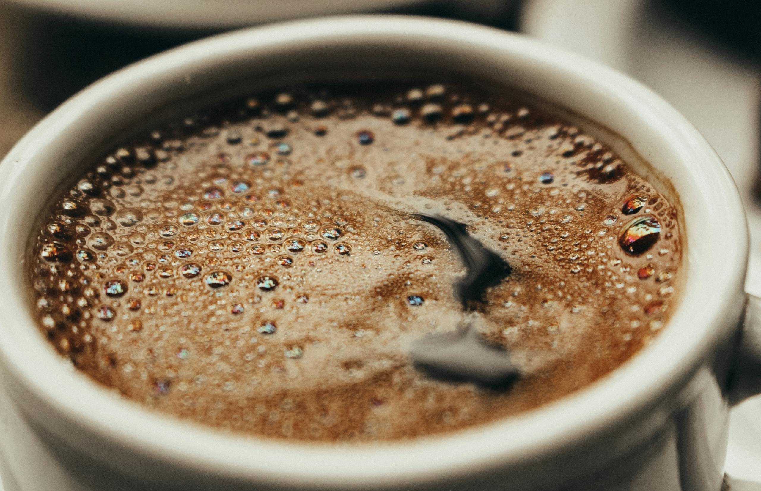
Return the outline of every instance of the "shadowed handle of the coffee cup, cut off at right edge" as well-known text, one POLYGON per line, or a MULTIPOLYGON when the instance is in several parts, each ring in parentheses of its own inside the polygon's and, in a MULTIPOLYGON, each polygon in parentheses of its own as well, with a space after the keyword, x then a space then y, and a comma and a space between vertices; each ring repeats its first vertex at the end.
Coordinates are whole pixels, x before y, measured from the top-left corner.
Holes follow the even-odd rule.
POLYGON ((757 394, 761 394, 761 298, 749 293, 734 356, 729 401, 736 405, 757 394))

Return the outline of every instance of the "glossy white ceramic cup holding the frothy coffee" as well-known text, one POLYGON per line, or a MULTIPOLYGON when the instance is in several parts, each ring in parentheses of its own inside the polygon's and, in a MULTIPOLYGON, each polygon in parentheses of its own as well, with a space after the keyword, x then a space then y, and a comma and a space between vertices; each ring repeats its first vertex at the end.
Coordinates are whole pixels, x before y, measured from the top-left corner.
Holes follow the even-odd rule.
POLYGON ((333 17, 242 30, 97 82, 40 122, 0 165, 0 250, 8 491, 718 491, 731 401, 761 389, 759 309, 743 292, 743 208, 705 139, 622 74, 454 21, 333 17), (174 420, 114 398, 53 351, 32 315, 24 257, 59 182, 104 142, 167 103, 233 82, 381 68, 444 69, 533 93, 622 135, 628 144, 618 138, 614 149, 633 148, 670 179, 683 204, 687 279, 677 311, 650 346, 599 382, 518 417, 373 445, 244 438, 174 420))

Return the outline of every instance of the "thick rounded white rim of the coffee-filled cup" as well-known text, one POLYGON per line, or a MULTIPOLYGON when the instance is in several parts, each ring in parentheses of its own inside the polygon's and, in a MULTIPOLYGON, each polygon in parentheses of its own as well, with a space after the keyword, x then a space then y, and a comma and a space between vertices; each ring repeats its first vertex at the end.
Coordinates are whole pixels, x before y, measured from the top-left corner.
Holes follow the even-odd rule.
MULTIPOLYGON (((701 290, 687 284, 677 312, 650 346, 599 382, 537 410, 413 442, 310 445, 228 436, 115 400, 54 353, 39 334, 24 294, 7 281, 0 282, 0 298, 5 299, 0 315, 13 319, 0 329, 0 363, 11 394, 24 393, 32 401, 27 412, 33 407, 115 448, 210 476, 334 489, 353 489, 368 481, 377 486, 406 484, 519 465, 599 435, 653 407, 694 372, 710 347, 726 335, 722 327, 726 315, 741 301, 737 297, 747 261, 747 229, 734 182, 705 139, 664 100, 625 75, 525 36, 460 21, 364 15, 254 27, 189 43, 116 72, 46 116, 0 164, 0 248, 10 250, 13 237, 18 238, 18 220, 11 206, 14 188, 28 179, 40 150, 69 125, 91 117, 99 105, 123 97, 129 87, 151 87, 154 78, 167 74, 191 77, 199 63, 213 57, 326 37, 343 42, 403 38, 426 40, 442 50, 454 45, 489 49, 504 56, 506 64, 508 59, 521 59, 551 69, 559 78, 588 84, 594 97, 613 97, 627 116, 647 122, 664 140, 668 137, 684 168, 691 169, 685 179, 704 193, 701 223, 721 236, 700 244, 690 242, 686 255, 690 280, 706 283, 710 279, 712 287, 701 290), (730 237, 736 243, 728 247, 730 237)), ((691 223, 697 220, 688 218, 691 223)), ((18 255, 0 255, 0 271, 11 271, 5 268, 18 269, 18 255)))

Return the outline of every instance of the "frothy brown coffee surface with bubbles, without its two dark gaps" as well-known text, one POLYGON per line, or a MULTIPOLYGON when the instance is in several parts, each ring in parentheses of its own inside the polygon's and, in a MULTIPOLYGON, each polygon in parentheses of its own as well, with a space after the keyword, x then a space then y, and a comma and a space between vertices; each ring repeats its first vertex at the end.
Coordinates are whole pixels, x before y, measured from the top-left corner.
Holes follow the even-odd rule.
POLYGON ((409 439, 600 379, 666 324, 678 204, 501 87, 334 84, 220 103, 88 164, 43 217, 43 332, 123 398, 226 431, 409 439), (463 306, 438 215, 511 274, 463 306), (464 323, 520 372, 432 379, 409 348, 464 323))

